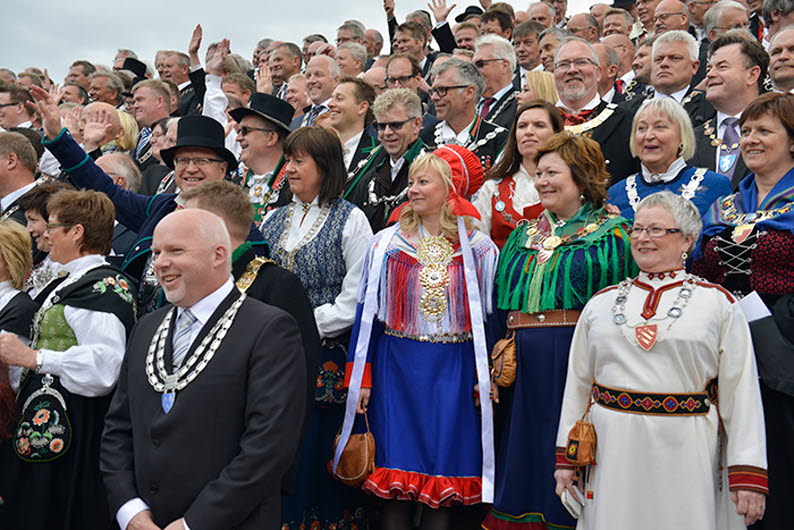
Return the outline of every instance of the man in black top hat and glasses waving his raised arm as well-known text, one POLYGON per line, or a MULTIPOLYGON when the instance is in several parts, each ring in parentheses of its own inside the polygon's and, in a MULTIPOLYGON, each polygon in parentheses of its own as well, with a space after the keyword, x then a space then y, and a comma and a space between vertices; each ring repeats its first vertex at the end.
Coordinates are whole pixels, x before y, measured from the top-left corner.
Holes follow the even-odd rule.
MULTIPOLYGON (((138 240, 121 264, 132 278, 139 278, 139 303, 143 312, 160 305, 157 280, 153 273, 151 242, 154 228, 160 220, 181 208, 181 191, 195 188, 204 182, 223 179, 230 169, 237 167, 237 159, 224 147, 224 131, 220 123, 205 116, 185 116, 177 125, 176 145, 163 149, 160 155, 166 166, 174 170, 177 193, 154 197, 139 195, 117 186, 97 166, 90 156, 61 127, 58 107, 43 89, 32 91, 36 108, 42 115, 45 139, 42 142, 58 159, 72 180, 81 188, 104 192, 116 206, 116 219, 138 233, 138 240)), ((99 112, 86 122, 86 129, 104 127, 109 116, 99 112)), ((262 236, 252 226, 249 240, 261 241, 262 236)))

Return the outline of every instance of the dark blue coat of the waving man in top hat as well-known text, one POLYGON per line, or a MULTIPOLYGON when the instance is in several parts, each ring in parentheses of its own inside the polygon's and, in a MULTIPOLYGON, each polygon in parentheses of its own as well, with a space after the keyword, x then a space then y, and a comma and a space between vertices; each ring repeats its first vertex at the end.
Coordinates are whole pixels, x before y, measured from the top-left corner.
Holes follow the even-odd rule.
MULTIPOLYGON (((79 187, 105 193, 116 207, 116 220, 138 233, 135 245, 121 264, 121 270, 139 279, 149 257, 154 227, 160 219, 176 209, 176 194, 163 193, 149 197, 117 186, 77 145, 66 129, 56 138, 43 143, 79 187)), ((264 240, 253 225, 248 238, 250 241, 264 240)))

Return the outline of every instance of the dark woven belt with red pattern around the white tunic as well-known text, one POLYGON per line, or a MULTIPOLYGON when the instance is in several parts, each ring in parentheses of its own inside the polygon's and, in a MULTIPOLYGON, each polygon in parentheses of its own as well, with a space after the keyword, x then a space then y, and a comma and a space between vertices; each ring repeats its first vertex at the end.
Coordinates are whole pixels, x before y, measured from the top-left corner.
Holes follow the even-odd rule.
POLYGON ((608 409, 661 416, 703 416, 717 404, 717 380, 694 394, 651 394, 631 392, 593 383, 593 401, 608 409))

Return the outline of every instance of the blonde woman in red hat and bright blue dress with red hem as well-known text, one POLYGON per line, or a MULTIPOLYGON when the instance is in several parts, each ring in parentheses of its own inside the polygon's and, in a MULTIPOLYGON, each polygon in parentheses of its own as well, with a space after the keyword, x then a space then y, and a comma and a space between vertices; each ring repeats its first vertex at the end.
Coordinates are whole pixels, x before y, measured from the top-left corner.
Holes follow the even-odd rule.
POLYGON ((409 202, 365 261, 343 432, 352 431, 355 413, 368 413, 376 468, 362 488, 386 499, 385 530, 411 528, 414 503, 423 505, 421 528, 450 528, 449 506, 492 495, 484 319, 497 250, 472 229, 477 210, 463 198, 482 179, 477 156, 460 146, 417 158, 409 202), (472 395, 478 382, 482 400, 478 390, 472 395))

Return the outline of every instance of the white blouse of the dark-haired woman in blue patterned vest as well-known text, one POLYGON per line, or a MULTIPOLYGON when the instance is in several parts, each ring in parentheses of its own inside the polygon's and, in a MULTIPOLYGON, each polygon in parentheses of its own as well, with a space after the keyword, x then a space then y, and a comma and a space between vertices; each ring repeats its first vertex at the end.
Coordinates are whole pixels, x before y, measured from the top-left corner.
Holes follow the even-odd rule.
MULTIPOLYGON (((317 217, 320 215, 320 204, 315 197, 306 215, 303 215, 303 201, 297 196, 293 196, 292 204, 287 208, 293 209, 292 223, 284 243, 284 250, 287 252, 294 250, 298 243, 311 229, 317 217)), ((263 225, 277 210, 268 212, 263 225)), ((327 222, 327 218, 320 225, 317 231, 319 234, 322 227, 327 222)), ((315 237, 317 237, 315 235, 315 237)), ((314 319, 317 321, 317 331, 320 337, 336 337, 350 329, 356 316, 356 295, 358 294, 358 284, 361 279, 361 267, 364 255, 367 253, 369 240, 372 238, 372 228, 364 212, 355 208, 345 222, 342 229, 342 256, 345 262, 347 273, 342 282, 342 290, 336 296, 333 303, 323 304, 314 308, 314 319)), ((308 243, 308 242, 307 242, 308 243)))

